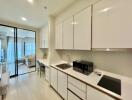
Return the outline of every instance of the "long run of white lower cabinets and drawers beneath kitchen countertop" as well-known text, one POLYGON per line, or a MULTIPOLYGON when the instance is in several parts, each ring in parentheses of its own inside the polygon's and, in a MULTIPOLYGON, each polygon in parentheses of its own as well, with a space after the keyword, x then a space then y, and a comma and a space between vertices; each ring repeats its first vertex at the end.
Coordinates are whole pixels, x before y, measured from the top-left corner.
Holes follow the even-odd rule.
POLYGON ((53 67, 50 67, 50 84, 64 100, 116 100, 53 67))

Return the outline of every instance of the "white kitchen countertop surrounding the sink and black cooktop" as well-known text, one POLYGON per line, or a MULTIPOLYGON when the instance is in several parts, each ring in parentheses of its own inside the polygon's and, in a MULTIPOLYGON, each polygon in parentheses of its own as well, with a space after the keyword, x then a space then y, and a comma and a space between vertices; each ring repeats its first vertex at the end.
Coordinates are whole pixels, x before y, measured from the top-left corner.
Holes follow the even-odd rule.
POLYGON ((73 68, 68 68, 68 69, 63 70, 63 69, 56 67, 56 65, 62 64, 62 63, 66 63, 66 62, 62 61, 56 64, 52 64, 51 66, 116 99, 132 100, 132 95, 131 95, 132 78, 128 78, 125 76, 117 75, 117 74, 106 72, 106 71, 99 70, 99 69, 95 69, 94 72, 92 72, 90 75, 84 75, 82 73, 74 71, 73 68), (102 75, 98 76, 95 73, 95 71, 101 72, 102 75), (103 75, 107 75, 113 78, 118 78, 121 80, 121 96, 97 85, 97 83, 100 81, 103 75))

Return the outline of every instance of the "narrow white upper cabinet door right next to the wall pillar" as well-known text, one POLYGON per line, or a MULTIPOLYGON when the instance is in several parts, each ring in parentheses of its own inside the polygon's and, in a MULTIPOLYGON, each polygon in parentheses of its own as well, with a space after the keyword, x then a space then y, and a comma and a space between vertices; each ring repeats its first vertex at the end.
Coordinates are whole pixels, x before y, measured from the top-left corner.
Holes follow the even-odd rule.
POLYGON ((62 49, 62 23, 55 25, 55 49, 62 49))

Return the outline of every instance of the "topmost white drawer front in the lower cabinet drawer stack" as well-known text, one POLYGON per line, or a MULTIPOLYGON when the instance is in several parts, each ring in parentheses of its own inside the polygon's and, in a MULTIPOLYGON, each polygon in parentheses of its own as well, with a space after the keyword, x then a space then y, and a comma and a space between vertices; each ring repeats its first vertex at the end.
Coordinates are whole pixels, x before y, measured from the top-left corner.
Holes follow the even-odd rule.
POLYGON ((68 76, 68 83, 71 83, 72 85, 74 85, 75 87, 77 87, 78 89, 86 92, 86 84, 84 84, 83 82, 68 76))

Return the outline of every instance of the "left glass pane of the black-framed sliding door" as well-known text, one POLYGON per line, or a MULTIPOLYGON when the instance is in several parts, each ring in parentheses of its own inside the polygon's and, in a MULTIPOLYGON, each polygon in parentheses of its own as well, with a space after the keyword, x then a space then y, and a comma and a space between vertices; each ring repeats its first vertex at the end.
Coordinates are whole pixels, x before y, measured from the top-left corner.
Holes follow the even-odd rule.
POLYGON ((10 76, 16 75, 14 47, 14 28, 0 26, 0 63, 2 71, 8 69, 10 76))

